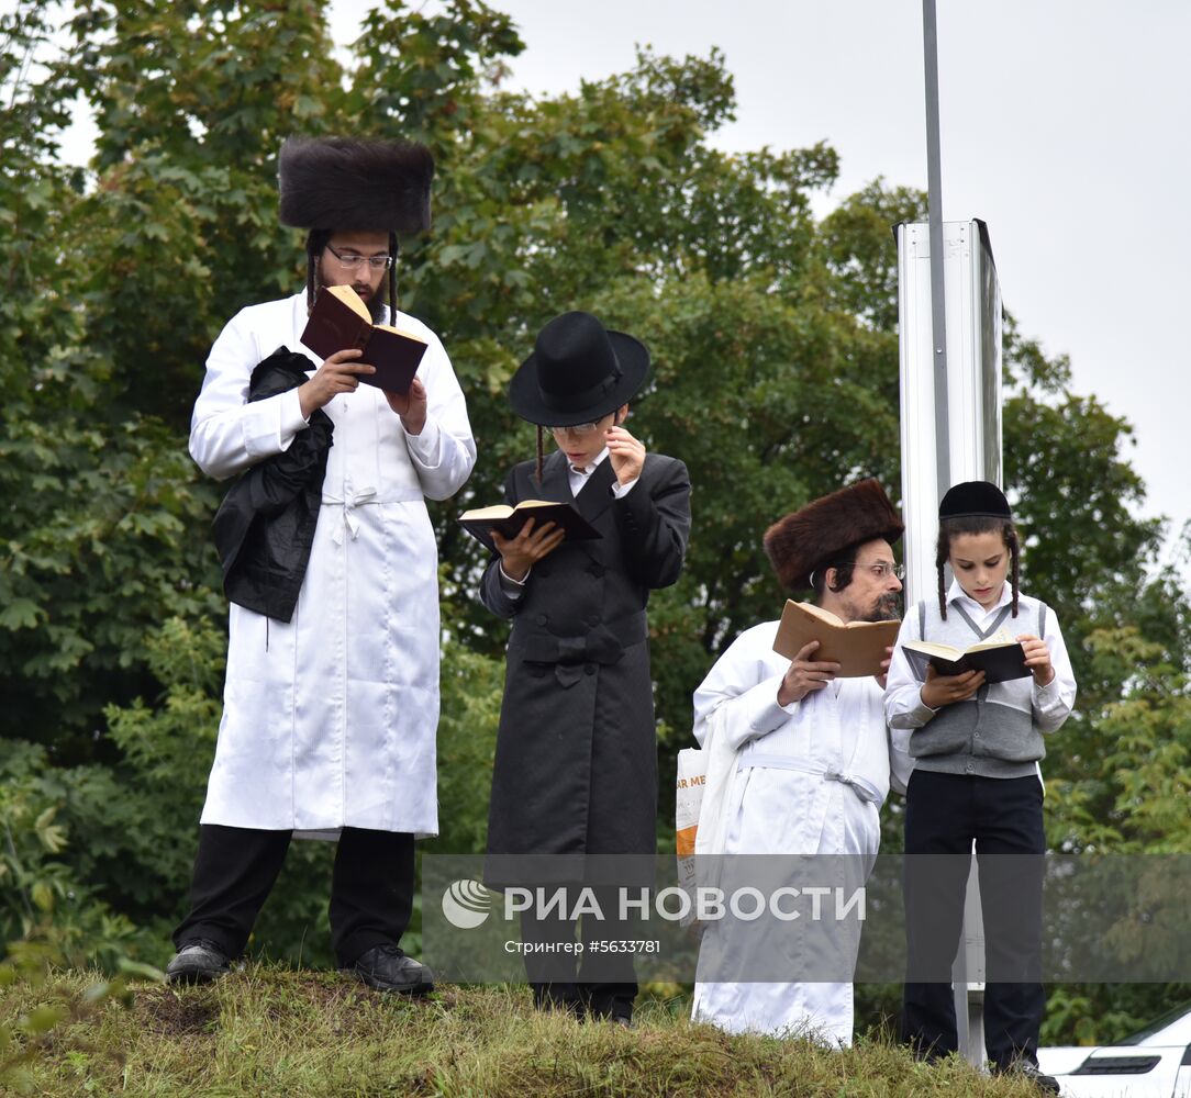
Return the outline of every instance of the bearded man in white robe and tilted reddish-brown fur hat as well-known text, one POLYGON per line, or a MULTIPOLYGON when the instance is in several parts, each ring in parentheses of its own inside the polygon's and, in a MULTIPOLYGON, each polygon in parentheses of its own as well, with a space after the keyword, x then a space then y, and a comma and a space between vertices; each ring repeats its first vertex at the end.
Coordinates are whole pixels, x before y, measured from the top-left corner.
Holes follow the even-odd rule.
MULTIPOLYGON (((902 569, 890 542, 902 529, 880 485, 862 481, 784 517, 765 547, 785 588, 812 588, 843 621, 884 621, 899 616, 902 569)), ((836 903, 863 885, 880 841, 890 788, 884 675, 838 678, 838 664, 815 659, 816 641, 786 660, 773 651, 777 630, 771 621, 742 633, 694 694, 700 745, 713 724, 736 753, 723 818, 700 817, 700 837, 704 828, 723 835, 717 879, 728 896, 748 886, 768 896, 779 885, 833 892, 819 895, 821 920, 805 903, 812 892, 802 891, 803 903, 790 893, 779 904, 798 920, 709 921, 693 1016, 732 1033, 843 1046, 860 923, 855 906, 836 917, 836 903)))

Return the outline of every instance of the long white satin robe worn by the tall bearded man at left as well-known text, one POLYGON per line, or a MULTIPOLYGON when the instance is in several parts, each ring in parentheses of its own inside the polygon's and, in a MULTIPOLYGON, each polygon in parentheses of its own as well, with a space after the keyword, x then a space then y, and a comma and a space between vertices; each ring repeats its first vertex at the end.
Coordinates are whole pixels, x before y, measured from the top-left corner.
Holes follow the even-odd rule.
MULTIPOLYGON (((418 370, 426 425, 409 435, 384 393, 361 385, 335 422, 323 508, 293 619, 232 604, 219 742, 202 823, 333 836, 342 827, 438 830, 438 551, 425 498, 467 481, 475 443, 438 337, 418 370)), ((285 451, 306 423, 297 390, 247 403, 254 366, 299 337, 306 297, 241 310, 207 359, 191 423, 204 472, 230 477, 285 451)))

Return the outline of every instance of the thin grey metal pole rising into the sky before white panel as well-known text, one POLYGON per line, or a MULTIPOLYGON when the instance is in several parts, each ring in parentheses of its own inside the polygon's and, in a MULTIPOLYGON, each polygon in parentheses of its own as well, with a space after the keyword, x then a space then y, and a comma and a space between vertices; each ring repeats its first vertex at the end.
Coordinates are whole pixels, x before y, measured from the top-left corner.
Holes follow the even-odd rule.
POLYGON ((943 297, 943 182, 939 155, 939 34, 935 0, 922 0, 927 77, 927 220, 930 225, 930 315, 935 350, 935 468, 939 498, 952 487, 947 403, 947 308, 943 297))

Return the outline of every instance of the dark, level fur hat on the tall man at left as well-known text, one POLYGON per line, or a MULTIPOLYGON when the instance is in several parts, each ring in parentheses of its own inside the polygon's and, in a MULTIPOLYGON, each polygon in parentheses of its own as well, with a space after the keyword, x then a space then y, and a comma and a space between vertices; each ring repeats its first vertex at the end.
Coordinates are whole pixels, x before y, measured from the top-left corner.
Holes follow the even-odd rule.
POLYGON ((397 232, 430 227, 435 161, 417 142, 291 137, 281 146, 281 224, 397 232))

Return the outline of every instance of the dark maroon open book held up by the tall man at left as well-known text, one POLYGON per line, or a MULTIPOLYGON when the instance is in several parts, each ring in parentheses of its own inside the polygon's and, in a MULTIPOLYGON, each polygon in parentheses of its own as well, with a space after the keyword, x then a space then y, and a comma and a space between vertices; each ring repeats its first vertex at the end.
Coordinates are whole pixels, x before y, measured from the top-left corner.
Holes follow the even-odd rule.
POLYGON ((301 341, 324 359, 351 347, 363 351, 358 360, 375 366, 376 372, 361 374, 360 381, 399 396, 410 391, 426 353, 422 337, 373 324, 368 306, 350 286, 324 286, 318 291, 301 341))

